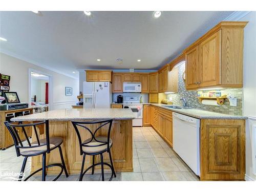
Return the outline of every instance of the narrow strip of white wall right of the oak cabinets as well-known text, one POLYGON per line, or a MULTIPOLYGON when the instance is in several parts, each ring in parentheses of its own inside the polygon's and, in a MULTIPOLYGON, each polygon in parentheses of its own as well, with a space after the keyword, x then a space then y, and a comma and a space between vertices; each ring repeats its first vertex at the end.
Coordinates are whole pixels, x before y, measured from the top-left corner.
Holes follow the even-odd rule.
POLYGON ((252 11, 240 21, 249 23, 244 29, 244 91, 243 91, 243 114, 252 117, 246 122, 246 180, 256 180, 253 174, 255 158, 252 157, 251 126, 253 117, 256 118, 256 12, 252 11))

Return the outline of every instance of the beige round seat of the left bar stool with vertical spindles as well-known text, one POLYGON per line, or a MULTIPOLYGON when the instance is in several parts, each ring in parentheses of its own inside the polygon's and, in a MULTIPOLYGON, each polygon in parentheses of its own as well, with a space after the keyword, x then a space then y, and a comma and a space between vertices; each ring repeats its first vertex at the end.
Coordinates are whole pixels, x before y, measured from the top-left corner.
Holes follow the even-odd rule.
MULTIPOLYGON (((46 144, 46 139, 40 139, 40 144, 46 144)), ((50 151, 54 148, 58 147, 63 142, 61 137, 50 137, 50 151)), ((37 141, 31 143, 31 146, 38 145, 37 141)), ((26 145, 25 147, 29 147, 26 145)), ((30 148, 19 148, 20 155, 22 156, 33 156, 35 154, 43 154, 47 152, 47 145, 37 146, 37 147, 30 147, 30 148)))

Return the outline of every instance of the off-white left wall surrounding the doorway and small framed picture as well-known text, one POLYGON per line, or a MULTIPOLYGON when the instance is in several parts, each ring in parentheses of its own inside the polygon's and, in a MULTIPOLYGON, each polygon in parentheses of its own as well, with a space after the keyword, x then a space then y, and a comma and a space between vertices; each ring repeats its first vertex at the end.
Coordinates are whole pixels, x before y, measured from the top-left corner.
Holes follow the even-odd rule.
MULTIPOLYGON (((0 53, 0 73, 10 75, 10 91, 18 93, 21 102, 29 102, 29 68, 52 75, 53 77, 53 106, 56 108, 71 108, 78 102, 79 80, 51 70, 38 67, 24 60, 0 53), (73 88, 73 95, 65 95, 65 87, 73 88), (66 105, 68 103, 68 105, 66 105)), ((55 109, 55 108, 54 108, 55 109)))

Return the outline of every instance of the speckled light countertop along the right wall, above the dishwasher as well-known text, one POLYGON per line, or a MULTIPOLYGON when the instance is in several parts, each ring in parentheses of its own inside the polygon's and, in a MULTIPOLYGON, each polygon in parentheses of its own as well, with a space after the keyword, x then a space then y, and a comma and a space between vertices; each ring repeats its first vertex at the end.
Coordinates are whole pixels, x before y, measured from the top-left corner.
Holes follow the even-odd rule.
POLYGON ((161 103, 151 103, 154 106, 159 106, 160 108, 170 110, 173 112, 177 112, 183 115, 187 115, 190 117, 195 117, 198 119, 247 119, 245 116, 236 116, 236 115, 227 115, 222 113, 215 113, 209 111, 203 111, 198 109, 170 109, 166 108, 166 104, 161 103))

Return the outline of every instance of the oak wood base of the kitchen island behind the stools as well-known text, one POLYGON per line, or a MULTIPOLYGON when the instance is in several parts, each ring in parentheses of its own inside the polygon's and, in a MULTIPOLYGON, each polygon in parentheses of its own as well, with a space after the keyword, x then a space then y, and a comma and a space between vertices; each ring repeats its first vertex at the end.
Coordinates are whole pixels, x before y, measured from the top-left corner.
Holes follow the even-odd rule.
MULTIPOLYGON (((87 120, 88 121, 88 120, 87 120)), ((88 125, 91 131, 95 129, 99 124, 88 125)), ((108 125, 103 126, 97 135, 107 134, 108 125)), ((45 128, 40 127, 40 139, 45 138, 45 128)), ((78 129, 82 129, 78 127, 78 129)), ((69 174, 79 174, 81 170, 82 155, 80 155, 80 149, 78 144, 78 138, 71 121, 51 121, 49 120, 49 131, 50 137, 62 137, 63 143, 61 144, 63 158, 65 160, 68 173, 69 174)), ((88 131, 81 130, 82 141, 91 138, 88 131)), ((33 137, 32 140, 35 141, 36 138, 33 137)), ((113 140, 113 146, 111 147, 111 154, 116 172, 133 172, 133 131, 132 131, 132 119, 118 119, 113 120, 111 128, 111 139, 113 140)), ((104 162, 110 162, 109 155, 103 154, 104 162)), ((50 154, 47 154, 47 164, 59 163, 60 155, 58 150, 53 150, 50 154)), ((84 164, 84 170, 92 165, 93 156, 86 156, 86 162, 84 164)), ((100 162, 100 157, 95 156, 95 163, 100 162)), ((31 173, 35 170, 41 168, 42 157, 35 156, 32 157, 31 163, 31 173)), ((95 172, 100 172, 100 166, 95 167, 95 172)), ((91 170, 89 170, 90 173, 91 170)), ((104 165, 104 171, 111 172, 110 168, 104 165)), ((60 172, 59 167, 50 167, 47 169, 48 175, 56 175, 60 172)))

